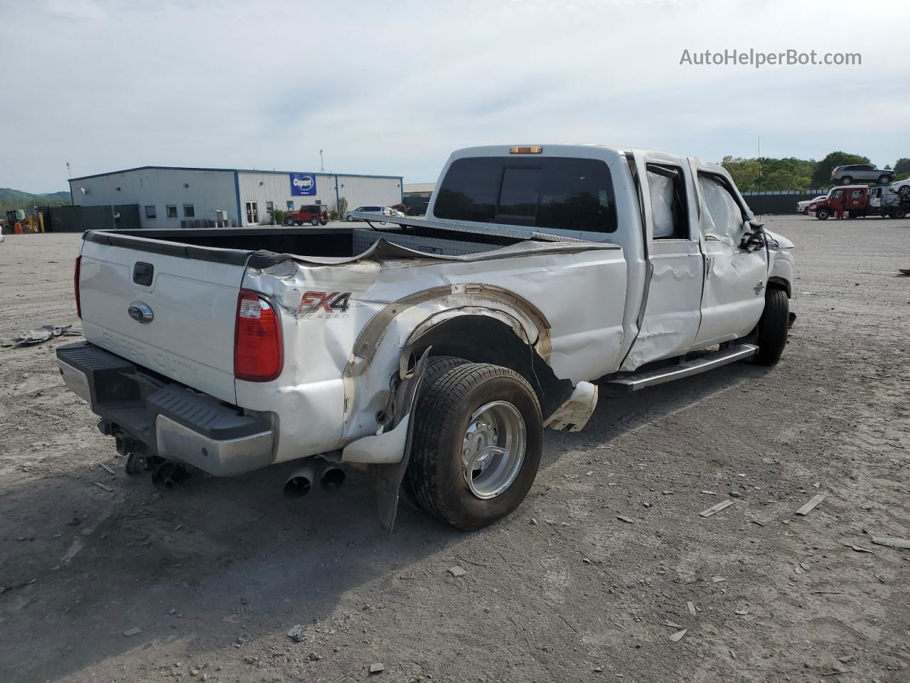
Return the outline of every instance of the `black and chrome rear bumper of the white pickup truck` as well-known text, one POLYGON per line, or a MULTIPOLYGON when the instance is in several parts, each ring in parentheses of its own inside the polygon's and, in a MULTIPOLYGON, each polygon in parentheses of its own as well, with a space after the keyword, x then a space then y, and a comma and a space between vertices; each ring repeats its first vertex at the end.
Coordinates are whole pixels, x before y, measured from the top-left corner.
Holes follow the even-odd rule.
POLYGON ((242 414, 211 396, 162 382, 136 364, 88 342, 57 348, 63 380, 111 433, 147 454, 226 476, 270 464, 275 437, 263 415, 242 414))

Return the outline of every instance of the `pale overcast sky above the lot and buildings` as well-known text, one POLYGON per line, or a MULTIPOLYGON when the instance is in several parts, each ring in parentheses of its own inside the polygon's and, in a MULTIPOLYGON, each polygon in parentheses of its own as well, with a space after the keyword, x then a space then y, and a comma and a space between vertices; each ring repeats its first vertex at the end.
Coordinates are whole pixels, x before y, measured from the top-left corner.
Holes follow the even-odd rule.
POLYGON ((0 0, 0 187, 143 165, 435 180, 454 148, 910 157, 910 3, 0 0), (686 66, 682 51, 862 66, 686 66))

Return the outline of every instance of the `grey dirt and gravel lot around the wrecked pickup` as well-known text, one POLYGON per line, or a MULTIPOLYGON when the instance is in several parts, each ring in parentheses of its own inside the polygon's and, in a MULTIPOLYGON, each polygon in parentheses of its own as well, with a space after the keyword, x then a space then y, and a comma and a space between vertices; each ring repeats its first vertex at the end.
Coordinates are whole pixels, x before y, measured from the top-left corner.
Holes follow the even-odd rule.
MULTIPOLYGON (((384 535, 366 473, 159 493, 60 381, 71 340, 0 349, 0 681, 910 681, 910 550, 871 542, 910 537, 910 220, 768 221, 783 362, 602 401, 475 534, 403 506, 384 535)), ((0 341, 77 322, 78 247, 0 244, 0 341)))

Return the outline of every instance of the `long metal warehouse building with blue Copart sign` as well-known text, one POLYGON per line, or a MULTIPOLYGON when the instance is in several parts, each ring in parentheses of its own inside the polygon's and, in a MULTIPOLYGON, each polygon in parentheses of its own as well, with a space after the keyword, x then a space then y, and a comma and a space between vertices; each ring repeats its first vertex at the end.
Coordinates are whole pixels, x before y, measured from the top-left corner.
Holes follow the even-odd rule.
POLYGON ((138 205, 143 228, 260 225, 271 222, 273 209, 326 204, 334 211, 342 199, 348 209, 403 199, 399 176, 241 168, 143 166, 72 178, 69 189, 76 206, 138 205))

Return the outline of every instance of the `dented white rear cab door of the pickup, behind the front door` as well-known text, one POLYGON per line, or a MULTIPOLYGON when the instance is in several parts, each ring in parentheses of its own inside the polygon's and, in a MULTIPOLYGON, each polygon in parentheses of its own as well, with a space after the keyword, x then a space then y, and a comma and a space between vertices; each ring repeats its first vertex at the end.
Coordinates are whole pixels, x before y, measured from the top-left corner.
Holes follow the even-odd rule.
POLYGON ((638 337, 622 370, 687 352, 701 321, 704 266, 692 171, 670 155, 636 155, 649 277, 638 337))

